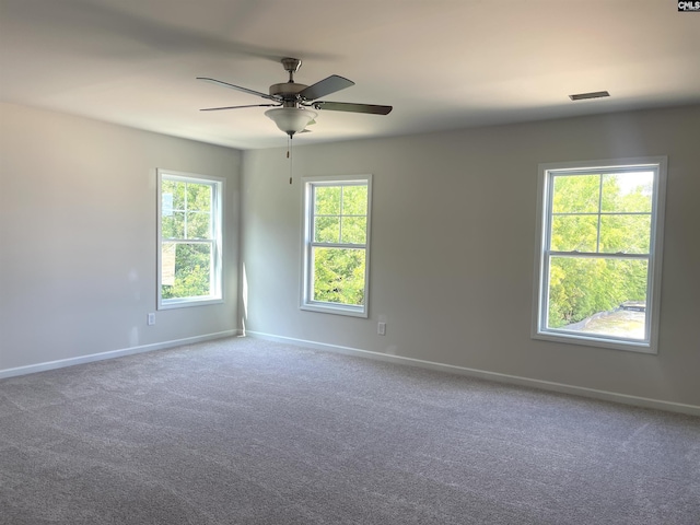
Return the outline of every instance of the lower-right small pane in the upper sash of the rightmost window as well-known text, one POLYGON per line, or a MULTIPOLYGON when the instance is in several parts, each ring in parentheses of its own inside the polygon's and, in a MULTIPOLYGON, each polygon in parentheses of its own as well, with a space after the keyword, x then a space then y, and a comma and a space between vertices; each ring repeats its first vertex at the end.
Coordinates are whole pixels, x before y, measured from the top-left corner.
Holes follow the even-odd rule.
POLYGON ((649 254, 651 215, 600 217, 600 252, 649 254))

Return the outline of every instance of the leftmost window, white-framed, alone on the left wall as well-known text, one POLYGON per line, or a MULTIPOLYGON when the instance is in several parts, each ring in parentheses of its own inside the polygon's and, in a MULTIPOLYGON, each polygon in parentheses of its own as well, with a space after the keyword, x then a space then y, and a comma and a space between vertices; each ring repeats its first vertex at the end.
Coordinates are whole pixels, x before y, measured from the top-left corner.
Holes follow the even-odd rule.
POLYGON ((159 170, 158 307, 222 301, 223 180, 159 170))

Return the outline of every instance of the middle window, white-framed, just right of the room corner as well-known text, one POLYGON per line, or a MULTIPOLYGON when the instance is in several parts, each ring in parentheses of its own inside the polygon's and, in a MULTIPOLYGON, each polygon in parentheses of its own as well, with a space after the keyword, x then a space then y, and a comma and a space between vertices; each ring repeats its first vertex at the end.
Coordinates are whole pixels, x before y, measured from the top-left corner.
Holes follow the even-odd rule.
POLYGON ((303 310, 368 316, 372 176, 304 178, 303 310))

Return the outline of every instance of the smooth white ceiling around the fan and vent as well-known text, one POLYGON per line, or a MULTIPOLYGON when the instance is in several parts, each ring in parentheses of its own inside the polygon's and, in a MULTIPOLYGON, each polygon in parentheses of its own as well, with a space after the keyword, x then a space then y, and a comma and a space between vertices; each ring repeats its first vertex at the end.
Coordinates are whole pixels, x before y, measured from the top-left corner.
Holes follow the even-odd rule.
POLYGON ((675 0, 0 0, 0 98, 240 149, 281 147, 255 91, 340 74, 295 143, 700 102, 700 12, 675 0), (571 102, 607 90, 609 98, 571 102))

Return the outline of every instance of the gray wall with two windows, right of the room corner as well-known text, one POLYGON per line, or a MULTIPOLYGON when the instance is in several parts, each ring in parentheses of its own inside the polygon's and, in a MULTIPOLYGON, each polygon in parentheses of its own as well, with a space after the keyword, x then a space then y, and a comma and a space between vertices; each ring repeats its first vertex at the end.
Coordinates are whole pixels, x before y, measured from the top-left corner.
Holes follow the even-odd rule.
POLYGON ((310 147, 302 136, 291 186, 285 149, 247 151, 241 325, 700 406, 699 136, 700 106, 310 147), (538 164, 651 155, 668 155, 658 354, 530 339, 538 164), (370 318, 300 311, 301 177, 364 173, 370 318))

